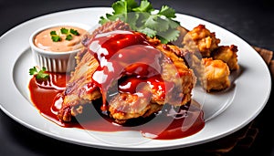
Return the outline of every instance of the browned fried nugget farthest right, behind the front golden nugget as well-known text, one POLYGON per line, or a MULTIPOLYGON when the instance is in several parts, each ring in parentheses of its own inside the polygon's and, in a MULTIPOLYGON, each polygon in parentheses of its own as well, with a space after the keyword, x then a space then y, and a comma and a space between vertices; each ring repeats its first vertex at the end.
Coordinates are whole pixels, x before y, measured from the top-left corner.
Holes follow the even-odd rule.
POLYGON ((230 70, 237 70, 237 46, 220 46, 211 53, 213 59, 220 59, 227 63, 230 70))

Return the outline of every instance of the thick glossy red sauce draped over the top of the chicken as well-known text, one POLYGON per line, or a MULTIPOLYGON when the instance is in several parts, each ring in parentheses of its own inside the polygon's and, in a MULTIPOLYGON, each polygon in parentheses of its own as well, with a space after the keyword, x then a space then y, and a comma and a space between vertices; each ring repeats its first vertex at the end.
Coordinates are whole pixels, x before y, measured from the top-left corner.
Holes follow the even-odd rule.
POLYGON ((117 30, 100 34, 90 42, 90 53, 100 63, 92 76, 92 83, 96 84, 102 93, 102 111, 107 110, 108 90, 113 82, 118 82, 121 76, 131 79, 127 86, 123 88, 119 86, 120 92, 136 93, 137 85, 132 82, 136 82, 137 78, 141 79, 139 83, 145 82, 151 86, 161 84, 162 90, 165 90, 163 83, 155 83, 155 81, 163 81, 160 66, 163 54, 151 46, 141 33, 117 30))

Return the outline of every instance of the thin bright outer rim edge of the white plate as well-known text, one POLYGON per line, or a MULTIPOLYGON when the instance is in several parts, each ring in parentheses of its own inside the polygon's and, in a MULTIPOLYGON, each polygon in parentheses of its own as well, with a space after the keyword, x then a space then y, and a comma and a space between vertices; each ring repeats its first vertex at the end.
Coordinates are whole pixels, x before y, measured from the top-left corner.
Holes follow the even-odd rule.
MULTIPOLYGON (((58 16, 58 15, 62 15, 62 14, 66 14, 66 13, 70 13, 70 12, 73 12, 73 11, 89 11, 90 9, 111 9, 111 7, 85 7, 85 8, 77 8, 77 9, 69 9, 69 10, 64 10, 64 11, 59 11, 59 12, 55 12, 55 13, 50 13, 50 14, 47 14, 47 15, 44 15, 44 16, 37 16, 33 19, 30 19, 30 20, 27 20, 26 22, 23 22, 11 29, 9 29, 7 32, 5 32, 5 34, 3 36, 0 36, 0 46, 1 46, 1 41, 3 39, 5 39, 6 37, 8 37, 12 32, 16 31, 16 29, 19 29, 21 26, 25 26, 25 25, 28 25, 30 24, 31 22, 35 22, 39 19, 42 19, 44 17, 50 17, 50 16, 58 16)), ((177 16, 188 16, 188 15, 184 15, 182 13, 176 13, 177 16)), ((199 17, 195 17, 195 16, 189 16, 191 18, 196 18, 197 20, 201 20, 201 21, 204 21, 205 23, 209 23, 210 25, 213 25, 213 26, 217 26, 216 24, 213 24, 211 22, 208 22, 208 21, 205 21, 204 19, 202 18, 199 18, 199 17)), ((221 26, 218 26, 219 28, 221 29, 224 29, 225 31, 229 32, 230 34, 234 35, 234 36, 237 36, 235 35, 234 33, 228 31, 227 29, 221 27, 221 26)), ((240 38, 239 36, 237 36, 239 39, 241 39, 244 43, 246 43, 246 46, 248 45, 248 47, 251 47, 245 40, 243 40, 242 38, 240 38)), ((0 47, 2 48, 2 47, 0 47)), ((251 47, 252 48, 252 47, 251 47)), ((255 50, 254 50, 255 51, 255 50)), ((258 55, 258 54, 257 54, 258 55)), ((259 55, 257 57, 260 57, 259 55)), ((259 58, 261 61, 263 61, 263 59, 260 57, 259 58)), ((265 68, 268 68, 267 65, 265 64, 265 68)), ((1 69, 2 70, 2 69, 1 69)), ((13 70, 13 69, 12 69, 13 70)), ((13 78, 13 73, 14 71, 12 71, 10 73, 9 71, 9 78, 13 78)), ((78 140, 67 140, 66 138, 59 138, 55 135, 53 135, 52 133, 49 133, 47 131, 43 131, 43 130, 39 130, 36 128, 36 126, 34 125, 29 125, 28 123, 26 123, 25 121, 22 121, 20 119, 17 119, 16 118, 16 115, 10 113, 7 109, 5 109, 3 101, 1 99, 0 103, 0 109, 2 109, 6 115, 8 115, 9 117, 11 117, 13 120, 16 120, 18 123, 22 124, 23 126, 31 129, 31 130, 35 130, 41 134, 44 134, 44 135, 47 135, 48 137, 51 137, 51 138, 54 138, 54 139, 57 139, 57 140, 64 140, 64 141, 67 141, 67 142, 70 142, 70 143, 76 143, 76 144, 79 144, 79 145, 84 145, 84 146, 91 146, 91 147, 97 147, 97 148, 101 148, 101 149, 113 149, 113 150, 125 150, 125 151, 159 151, 160 149, 161 150, 167 150, 167 149, 175 149, 175 148, 182 148, 182 147, 188 147, 188 146, 192 146, 192 145, 197 145, 197 144, 201 144, 201 143, 205 143, 205 142, 208 142, 208 141, 211 141, 211 140, 217 140, 219 138, 222 138, 222 137, 225 137, 237 130, 239 130, 240 128, 243 128, 244 126, 246 126, 251 120, 255 119, 258 114, 260 113, 260 111, 265 107, 265 105, 267 104, 268 100, 269 100, 269 95, 270 95, 270 92, 271 92, 271 78, 270 78, 270 74, 269 74, 269 68, 268 68, 268 74, 269 76, 267 76, 269 78, 269 88, 267 89, 267 97, 262 101, 262 104, 261 104, 261 107, 256 111, 256 113, 248 119, 248 121, 246 121, 245 124, 242 124, 242 125, 239 125, 237 128, 235 128, 234 130, 228 130, 228 131, 224 131, 222 135, 219 135, 219 136, 216 136, 214 138, 210 138, 208 140, 199 140, 197 143, 190 143, 190 144, 187 144, 187 145, 183 145, 182 144, 179 144, 179 143, 176 143, 176 141, 174 143, 171 143, 169 146, 161 146, 161 145, 158 145, 157 148, 145 148, 145 147, 141 147, 141 148, 134 148, 134 147, 113 147, 113 146, 108 146, 107 144, 103 145, 103 144, 91 144, 89 142, 79 142, 78 140)), ((1 78, 2 79, 2 78, 1 78)), ((0 80, 1 80, 0 79, 0 80)), ((13 81, 14 83, 14 81, 13 81)), ((0 84, 2 85, 2 82, 0 82, 0 84)), ((13 86, 15 87, 15 85, 13 84, 13 86)), ((210 121, 211 122, 211 121, 210 121)), ((205 126, 206 126, 206 123, 205 123, 205 126)), ((165 140, 164 140, 165 141, 165 140)), ((168 141, 167 141, 168 142, 168 141)))

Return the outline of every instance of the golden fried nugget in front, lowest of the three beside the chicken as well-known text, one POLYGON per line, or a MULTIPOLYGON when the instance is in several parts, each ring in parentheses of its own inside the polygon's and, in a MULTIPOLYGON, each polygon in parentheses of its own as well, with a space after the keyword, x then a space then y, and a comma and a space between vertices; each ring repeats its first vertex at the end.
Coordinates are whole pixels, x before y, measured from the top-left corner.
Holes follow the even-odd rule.
POLYGON ((227 63, 222 60, 214 60, 212 57, 202 58, 204 73, 200 77, 201 84, 207 92, 223 90, 230 87, 228 78, 230 71, 227 63))

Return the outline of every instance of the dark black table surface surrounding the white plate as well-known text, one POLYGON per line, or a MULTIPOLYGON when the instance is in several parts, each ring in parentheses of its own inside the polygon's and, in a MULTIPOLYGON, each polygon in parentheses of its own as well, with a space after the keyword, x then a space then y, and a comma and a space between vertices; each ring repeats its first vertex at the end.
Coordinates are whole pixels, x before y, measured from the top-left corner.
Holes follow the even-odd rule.
MULTIPOLYGON (((111 6, 112 0, 0 0, 0 36, 14 26, 29 19, 68 9, 111 6)), ((251 46, 274 50, 274 5, 270 0, 219 1, 219 0, 151 0, 153 6, 172 6, 176 12, 196 16, 240 36, 251 46)), ((19 39, 19 38, 17 38, 19 39)), ((4 53, 4 51, 0 51, 4 53)), ((3 77, 5 73, 1 73, 3 77)), ((263 79, 262 79, 263 80, 263 79)), ((5 91, 5 88, 0 88, 5 91)), ((258 123, 258 136, 248 151, 234 154, 274 155, 274 106, 271 96, 266 107, 255 120, 258 123)), ((149 151, 151 154, 195 154, 195 146, 169 151, 149 151)), ((132 154, 131 151, 112 151, 84 147, 29 130, 12 120, 0 110, 0 155, 95 155, 132 154)), ((140 154, 137 152, 137 154, 140 154)), ((142 153, 141 153, 142 154, 142 153)))

